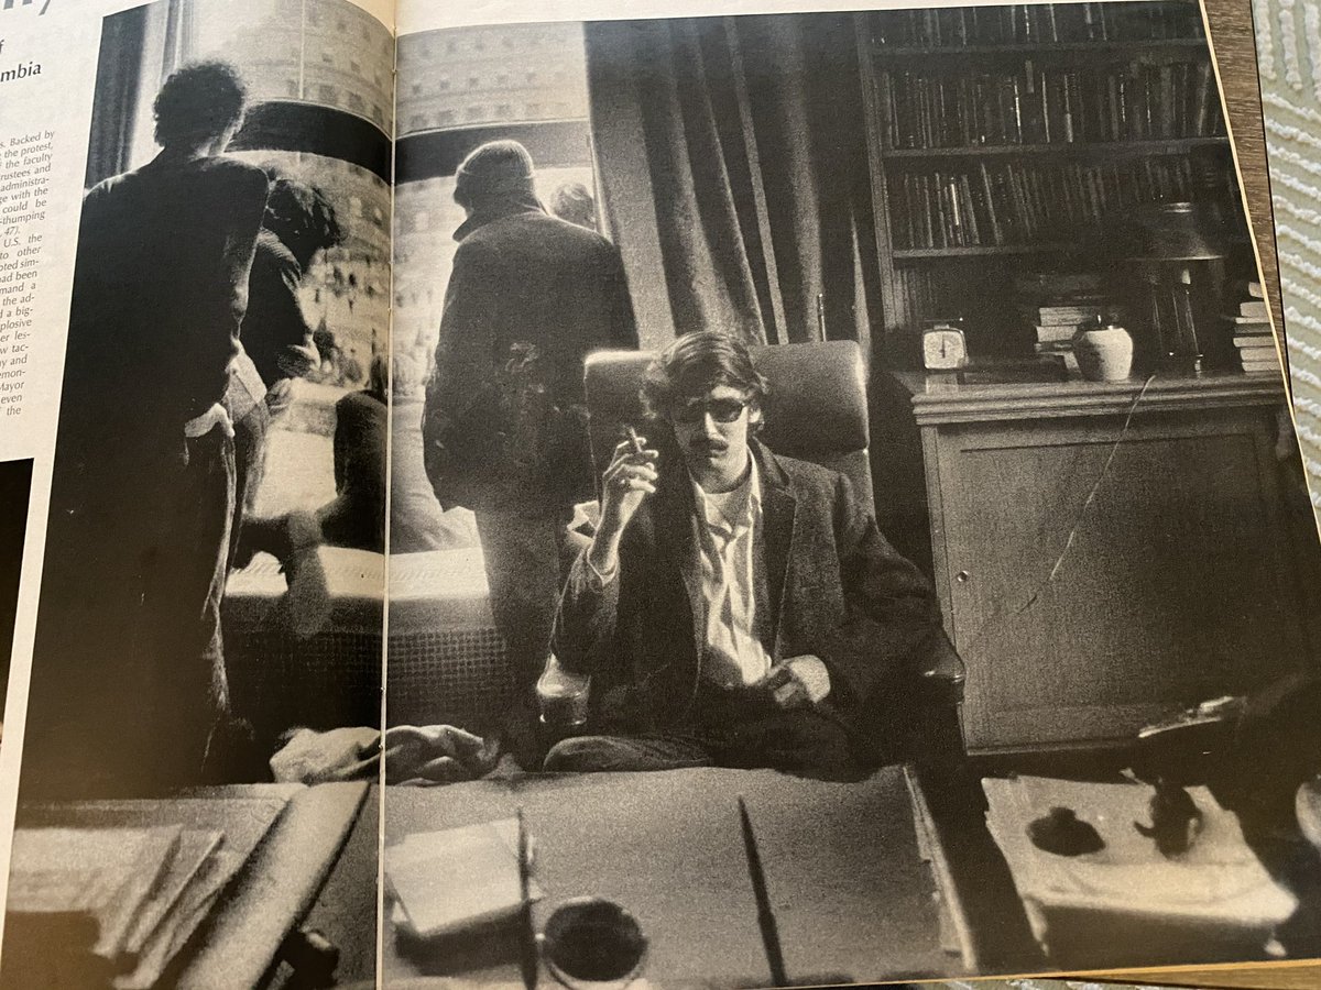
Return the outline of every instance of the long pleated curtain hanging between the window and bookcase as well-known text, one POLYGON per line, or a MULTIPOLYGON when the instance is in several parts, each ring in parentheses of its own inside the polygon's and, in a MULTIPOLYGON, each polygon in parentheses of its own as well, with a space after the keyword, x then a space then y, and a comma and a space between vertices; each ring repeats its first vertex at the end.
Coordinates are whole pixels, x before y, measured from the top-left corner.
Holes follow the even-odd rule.
POLYGON ((871 352, 876 239, 849 16, 587 25, 605 215, 643 345, 723 326, 871 352))

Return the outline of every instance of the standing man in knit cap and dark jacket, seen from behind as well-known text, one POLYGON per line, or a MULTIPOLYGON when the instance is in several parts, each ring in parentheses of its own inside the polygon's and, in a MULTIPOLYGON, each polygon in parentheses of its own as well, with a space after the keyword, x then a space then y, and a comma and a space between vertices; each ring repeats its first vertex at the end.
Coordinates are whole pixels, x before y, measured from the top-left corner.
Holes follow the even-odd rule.
POLYGON ((583 359, 635 347, 637 330, 618 252, 546 213, 520 144, 469 154, 454 201, 468 219, 427 391, 427 473, 443 504, 477 515, 495 626, 526 692, 547 653, 563 527, 593 490, 583 359))

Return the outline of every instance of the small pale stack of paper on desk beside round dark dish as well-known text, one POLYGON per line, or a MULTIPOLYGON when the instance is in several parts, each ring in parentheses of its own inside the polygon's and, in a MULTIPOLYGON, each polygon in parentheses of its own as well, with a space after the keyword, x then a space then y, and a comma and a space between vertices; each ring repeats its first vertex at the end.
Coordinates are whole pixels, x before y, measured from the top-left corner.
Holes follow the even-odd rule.
MULTIPOLYGON (((391 920, 410 937, 433 939, 511 916, 522 904, 518 821, 413 833, 386 847, 384 875, 395 898, 391 920)), ((530 895, 543 895, 535 880, 530 895)))

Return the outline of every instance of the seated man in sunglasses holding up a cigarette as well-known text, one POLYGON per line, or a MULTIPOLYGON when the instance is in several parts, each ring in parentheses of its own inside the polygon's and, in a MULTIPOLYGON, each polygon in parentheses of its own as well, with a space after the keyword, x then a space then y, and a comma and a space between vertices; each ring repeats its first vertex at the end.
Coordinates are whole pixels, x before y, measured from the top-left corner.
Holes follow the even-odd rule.
POLYGON ((857 775, 917 664, 952 651, 930 586, 844 475, 756 440, 766 383, 736 338, 680 337, 643 396, 655 446, 616 447, 555 626, 596 734, 546 770, 857 775))

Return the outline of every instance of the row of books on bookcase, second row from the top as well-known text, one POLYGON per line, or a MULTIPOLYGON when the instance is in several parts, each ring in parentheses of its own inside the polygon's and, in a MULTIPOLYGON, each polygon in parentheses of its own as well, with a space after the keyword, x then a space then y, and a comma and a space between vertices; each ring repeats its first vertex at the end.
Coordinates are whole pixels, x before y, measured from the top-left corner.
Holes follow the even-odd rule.
POLYGON ((1210 62, 877 75, 886 149, 1075 144, 1225 133, 1210 62))

